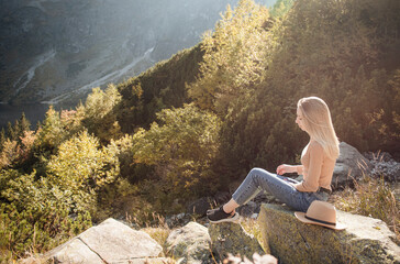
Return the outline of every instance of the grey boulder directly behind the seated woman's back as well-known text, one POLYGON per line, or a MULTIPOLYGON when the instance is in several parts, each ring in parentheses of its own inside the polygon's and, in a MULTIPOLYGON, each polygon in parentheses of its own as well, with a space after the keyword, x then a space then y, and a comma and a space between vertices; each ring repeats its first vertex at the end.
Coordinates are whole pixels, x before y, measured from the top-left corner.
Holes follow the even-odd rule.
POLYGON ((341 154, 336 160, 333 172, 333 188, 343 188, 359 179, 363 173, 370 175, 373 164, 365 158, 355 147, 345 142, 340 143, 341 154))

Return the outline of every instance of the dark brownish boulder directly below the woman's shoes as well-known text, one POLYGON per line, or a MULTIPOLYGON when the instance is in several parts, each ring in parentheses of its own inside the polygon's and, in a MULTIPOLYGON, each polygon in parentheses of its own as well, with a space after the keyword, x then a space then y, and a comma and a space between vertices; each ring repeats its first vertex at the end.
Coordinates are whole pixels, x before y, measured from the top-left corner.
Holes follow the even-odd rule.
POLYGON ((251 258, 254 253, 264 255, 265 252, 257 239, 248 234, 240 223, 223 222, 209 226, 212 250, 220 260, 226 258, 229 253, 240 254, 251 258))

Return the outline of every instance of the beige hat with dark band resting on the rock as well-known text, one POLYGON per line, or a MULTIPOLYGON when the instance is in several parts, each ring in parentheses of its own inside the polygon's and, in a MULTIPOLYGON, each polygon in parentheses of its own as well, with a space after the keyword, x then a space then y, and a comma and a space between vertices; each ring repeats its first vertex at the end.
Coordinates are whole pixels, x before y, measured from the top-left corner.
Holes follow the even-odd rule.
POLYGON ((336 221, 336 208, 326 201, 314 200, 305 213, 297 211, 295 216, 304 223, 319 224, 335 230, 346 228, 345 224, 336 221))

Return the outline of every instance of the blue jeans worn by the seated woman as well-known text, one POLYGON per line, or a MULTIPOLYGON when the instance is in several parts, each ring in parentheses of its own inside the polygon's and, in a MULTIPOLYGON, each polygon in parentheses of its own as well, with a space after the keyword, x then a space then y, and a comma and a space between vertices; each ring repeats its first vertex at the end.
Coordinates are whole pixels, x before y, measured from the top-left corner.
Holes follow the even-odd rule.
POLYGON ((312 201, 326 201, 329 198, 326 193, 298 191, 290 183, 296 184, 298 182, 271 174, 263 168, 253 168, 232 195, 232 199, 242 206, 252 200, 259 191, 266 190, 296 211, 305 212, 312 201))

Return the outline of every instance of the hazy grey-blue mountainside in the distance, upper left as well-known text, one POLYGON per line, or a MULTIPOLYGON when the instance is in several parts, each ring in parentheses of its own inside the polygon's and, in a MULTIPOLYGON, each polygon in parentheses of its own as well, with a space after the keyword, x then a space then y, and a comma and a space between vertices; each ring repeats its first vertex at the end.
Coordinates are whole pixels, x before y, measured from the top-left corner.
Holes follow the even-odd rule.
POLYGON ((198 43, 221 1, 0 1, 0 102, 77 105, 198 43))

